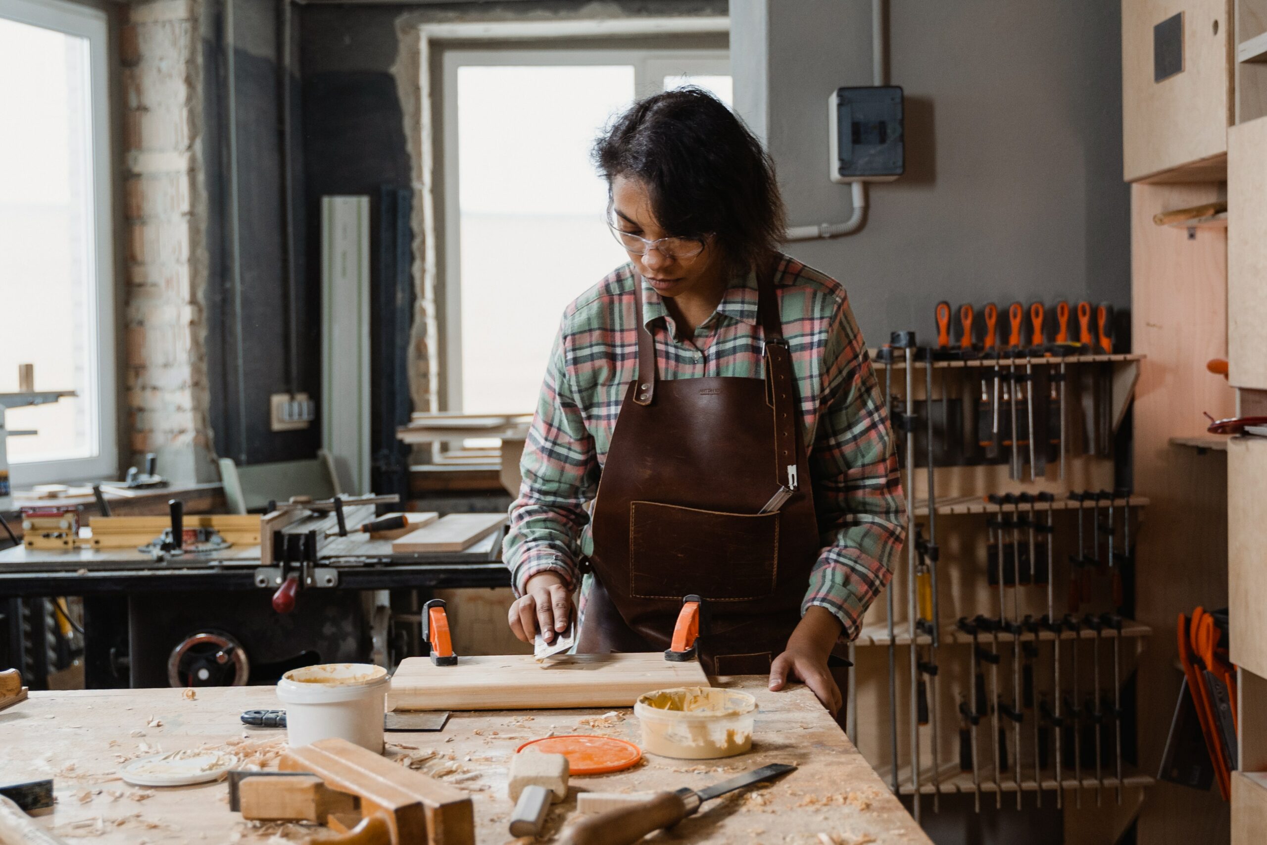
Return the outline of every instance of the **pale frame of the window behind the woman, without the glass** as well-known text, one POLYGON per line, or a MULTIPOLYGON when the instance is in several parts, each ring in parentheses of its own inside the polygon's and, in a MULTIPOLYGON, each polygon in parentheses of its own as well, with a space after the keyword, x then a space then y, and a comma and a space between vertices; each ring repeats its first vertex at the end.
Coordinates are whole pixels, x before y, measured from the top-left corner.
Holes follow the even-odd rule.
MULTIPOLYGON (((440 61, 438 117, 441 133, 433 138, 440 170, 438 206, 440 314, 437 321, 440 397, 443 408, 462 410, 462 334, 461 334, 461 208, 457 167, 457 68, 462 66, 566 66, 632 65, 634 96, 644 98, 663 90, 664 77, 674 71, 692 75, 731 75, 730 51, 706 47, 651 49, 637 47, 559 46, 479 46, 451 47, 440 61)), ((594 281, 598 281, 597 279, 594 281)), ((576 291, 578 294, 580 291, 576 291)), ((531 408, 507 409, 531 413, 531 408)))

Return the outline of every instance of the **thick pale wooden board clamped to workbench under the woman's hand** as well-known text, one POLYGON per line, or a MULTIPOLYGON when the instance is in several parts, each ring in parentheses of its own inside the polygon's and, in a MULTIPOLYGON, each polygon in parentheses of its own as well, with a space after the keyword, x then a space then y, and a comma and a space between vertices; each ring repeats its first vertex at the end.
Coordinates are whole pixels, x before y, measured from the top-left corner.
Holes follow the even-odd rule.
POLYGON ((388 709, 632 707, 642 693, 707 687, 694 661, 664 654, 578 654, 542 665, 532 655, 459 656, 456 666, 405 658, 392 677, 388 709))

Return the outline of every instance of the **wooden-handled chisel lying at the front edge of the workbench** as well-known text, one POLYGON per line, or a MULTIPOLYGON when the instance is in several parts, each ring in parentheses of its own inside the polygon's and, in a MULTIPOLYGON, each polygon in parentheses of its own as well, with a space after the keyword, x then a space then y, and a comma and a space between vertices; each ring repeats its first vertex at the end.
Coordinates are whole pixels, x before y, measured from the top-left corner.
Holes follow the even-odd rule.
POLYGON ((647 834, 673 827, 683 818, 693 816, 706 801, 754 783, 772 780, 794 769, 794 765, 774 763, 706 789, 682 788, 661 792, 647 801, 583 817, 564 830, 560 841, 565 845, 632 845, 647 834))

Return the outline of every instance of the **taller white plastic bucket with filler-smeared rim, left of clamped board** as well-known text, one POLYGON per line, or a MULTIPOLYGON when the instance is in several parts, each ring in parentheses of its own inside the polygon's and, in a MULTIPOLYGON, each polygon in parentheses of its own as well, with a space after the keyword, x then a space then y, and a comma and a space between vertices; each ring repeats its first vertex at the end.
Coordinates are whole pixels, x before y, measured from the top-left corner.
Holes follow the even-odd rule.
POLYGON ((277 682, 290 745, 338 736, 383 754, 383 699, 388 671, 369 663, 326 663, 293 669, 277 682))

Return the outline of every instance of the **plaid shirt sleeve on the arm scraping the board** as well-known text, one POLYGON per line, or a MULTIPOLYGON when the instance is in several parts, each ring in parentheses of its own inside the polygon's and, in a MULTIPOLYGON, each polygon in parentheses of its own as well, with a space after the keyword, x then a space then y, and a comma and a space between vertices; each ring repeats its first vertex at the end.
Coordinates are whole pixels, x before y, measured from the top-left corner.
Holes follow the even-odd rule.
POLYGON ((542 571, 557 573, 569 590, 575 588, 582 536, 589 523, 584 505, 598 489, 598 471, 594 438, 568 376, 565 318, 523 445, 519 497, 511 505, 502 547, 516 595, 542 571))

